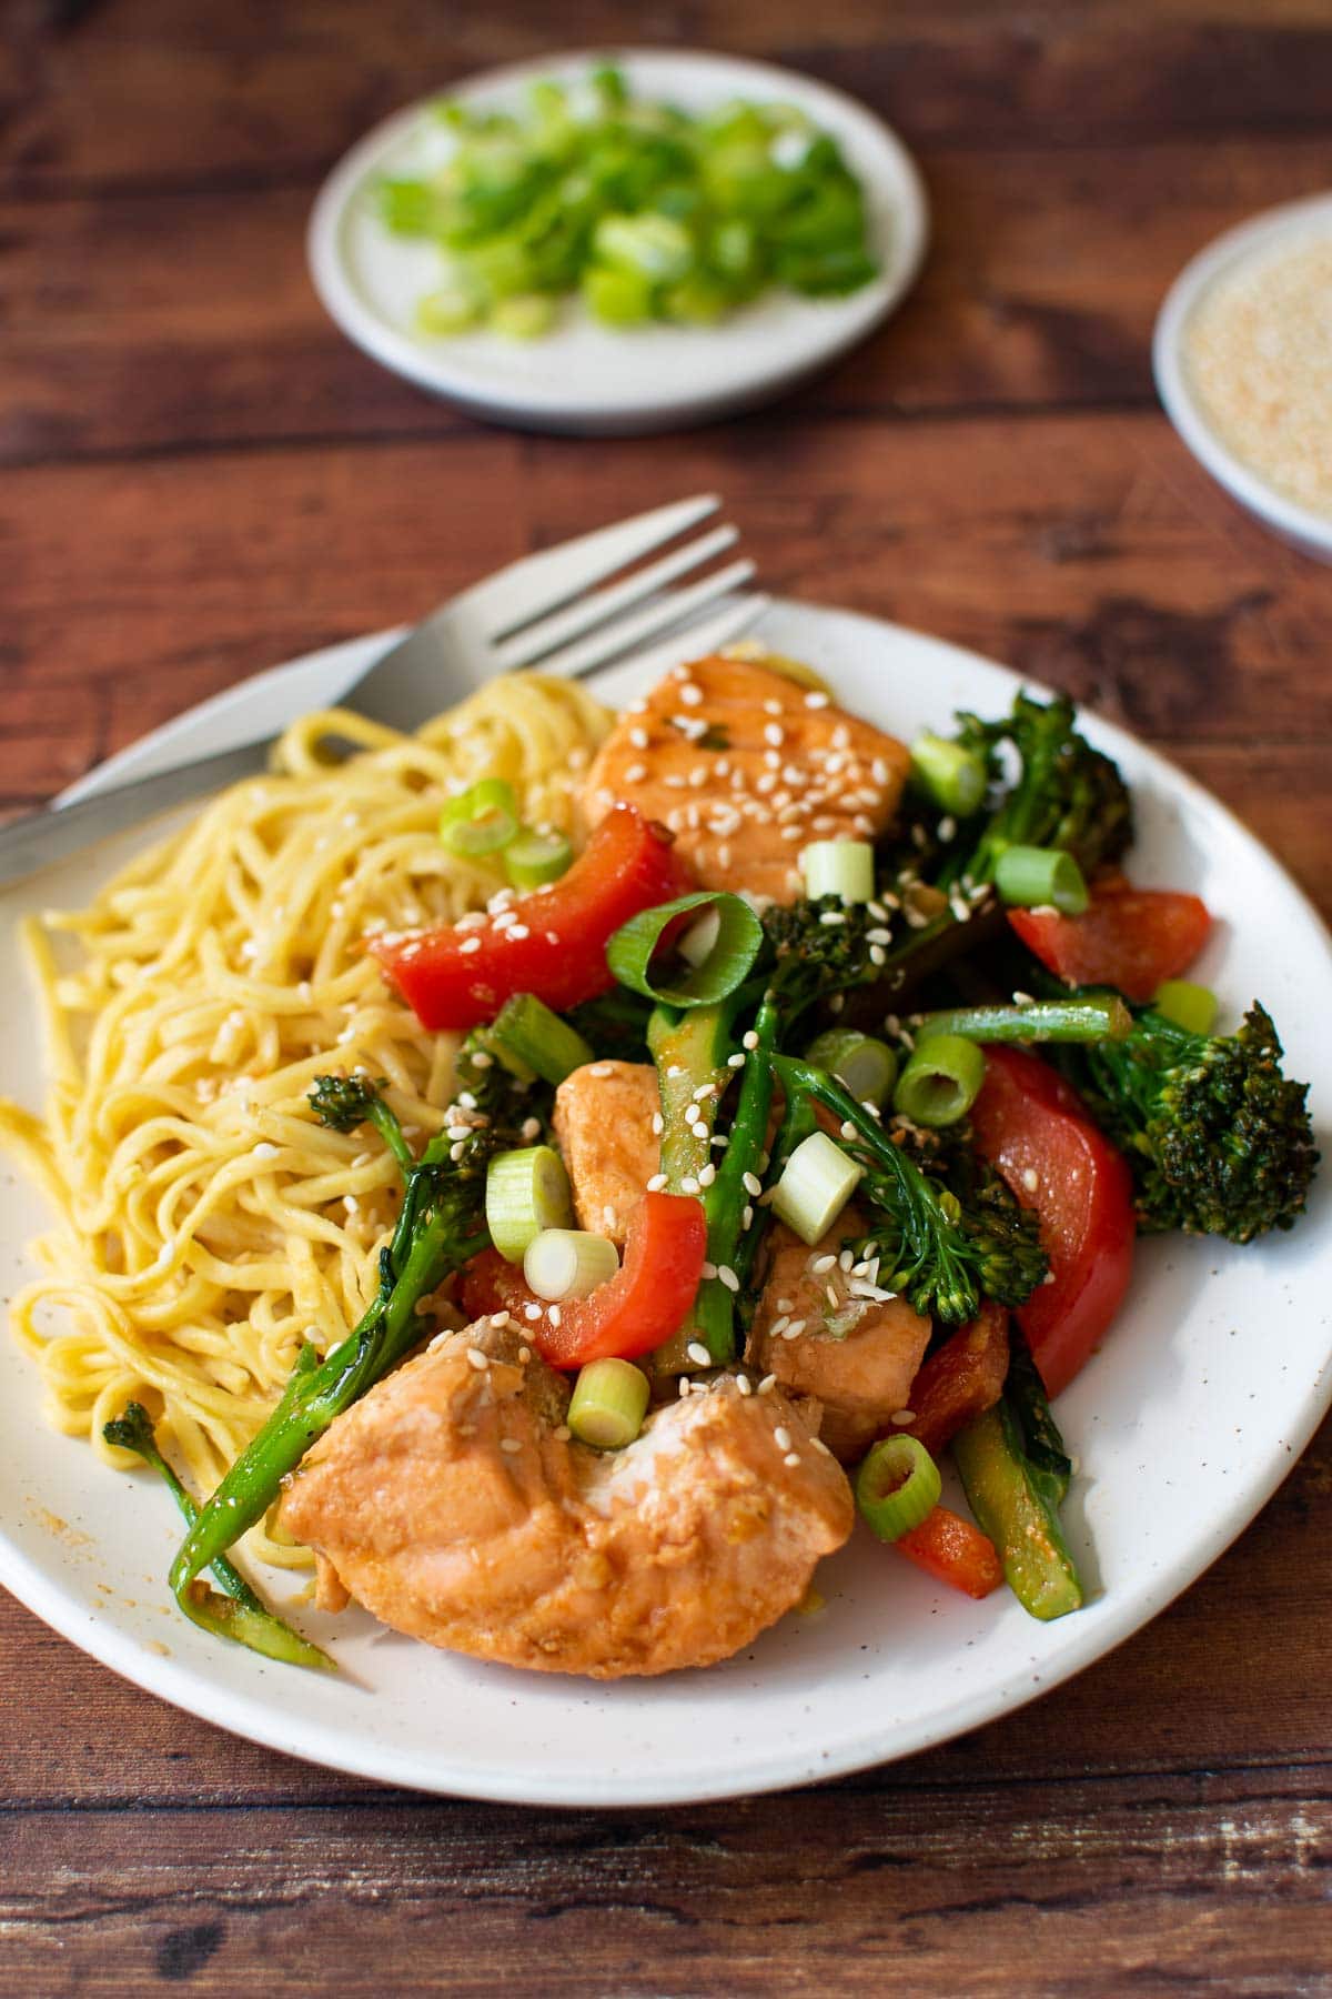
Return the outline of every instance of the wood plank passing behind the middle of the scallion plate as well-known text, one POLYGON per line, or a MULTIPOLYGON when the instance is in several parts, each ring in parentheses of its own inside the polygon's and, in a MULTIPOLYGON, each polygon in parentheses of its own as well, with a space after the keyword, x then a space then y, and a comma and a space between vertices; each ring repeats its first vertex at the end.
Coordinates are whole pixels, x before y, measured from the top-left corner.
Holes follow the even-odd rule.
MULTIPOLYGON (((793 416, 1150 404, 1152 320, 1178 268, 1320 186, 1330 154, 1186 142, 1076 150, 1054 176, 1036 150, 925 166, 935 242, 915 298, 793 416)), ((326 320, 306 218, 304 188, 0 208, 0 462, 469 428, 326 320)))

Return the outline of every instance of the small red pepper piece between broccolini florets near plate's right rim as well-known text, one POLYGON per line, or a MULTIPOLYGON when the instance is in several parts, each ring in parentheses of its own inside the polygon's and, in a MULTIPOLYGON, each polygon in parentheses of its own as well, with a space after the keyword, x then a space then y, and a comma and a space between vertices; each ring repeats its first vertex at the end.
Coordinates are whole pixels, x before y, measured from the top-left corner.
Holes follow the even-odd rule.
POLYGON ((1082 916, 1008 910, 1008 922, 1046 972, 1068 986, 1116 986, 1136 1001, 1188 972, 1212 928, 1196 896, 1126 882, 1096 884, 1082 916))

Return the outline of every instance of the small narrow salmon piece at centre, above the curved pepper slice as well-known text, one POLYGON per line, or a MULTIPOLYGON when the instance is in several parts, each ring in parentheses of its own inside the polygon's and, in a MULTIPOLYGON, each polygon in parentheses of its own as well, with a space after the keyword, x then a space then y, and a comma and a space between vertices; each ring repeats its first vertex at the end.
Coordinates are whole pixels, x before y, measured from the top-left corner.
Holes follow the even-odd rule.
POLYGON ((555 1091, 555 1143, 581 1229, 623 1249, 629 1215, 661 1165, 661 1109, 651 1061, 585 1061, 555 1091))

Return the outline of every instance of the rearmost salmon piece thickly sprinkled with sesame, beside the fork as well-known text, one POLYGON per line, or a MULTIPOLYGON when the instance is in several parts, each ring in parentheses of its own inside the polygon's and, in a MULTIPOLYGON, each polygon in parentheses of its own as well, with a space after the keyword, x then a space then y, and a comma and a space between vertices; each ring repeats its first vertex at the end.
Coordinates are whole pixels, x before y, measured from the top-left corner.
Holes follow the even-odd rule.
POLYGON ((751 660, 695 660, 621 716, 583 812, 595 826, 625 800, 671 828, 703 888, 795 902, 801 848, 883 834, 909 764, 827 694, 751 660))

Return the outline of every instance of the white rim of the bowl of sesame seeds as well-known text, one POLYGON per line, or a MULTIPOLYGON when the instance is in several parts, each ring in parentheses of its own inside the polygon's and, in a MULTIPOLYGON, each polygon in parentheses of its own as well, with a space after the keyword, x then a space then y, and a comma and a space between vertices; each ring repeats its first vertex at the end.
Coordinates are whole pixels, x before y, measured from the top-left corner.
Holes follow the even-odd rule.
POLYGON ((1276 492, 1276 488, 1242 458, 1236 458, 1230 446, 1222 442, 1190 386, 1184 364, 1184 336, 1202 294, 1218 278, 1232 272, 1238 264, 1262 256, 1280 238, 1296 240, 1328 230, 1332 230, 1332 194, 1314 194, 1300 202, 1284 202, 1280 208, 1268 208, 1264 214, 1254 216, 1252 222, 1242 222, 1238 228, 1226 230, 1206 250, 1200 250, 1174 280, 1152 336, 1156 390, 1166 406, 1166 416, 1198 464, 1204 472, 1212 474, 1218 486, 1226 488, 1232 500, 1248 508, 1264 528, 1270 528, 1284 542, 1290 542, 1292 548, 1314 556, 1318 562, 1332 562, 1332 520, 1276 492))

